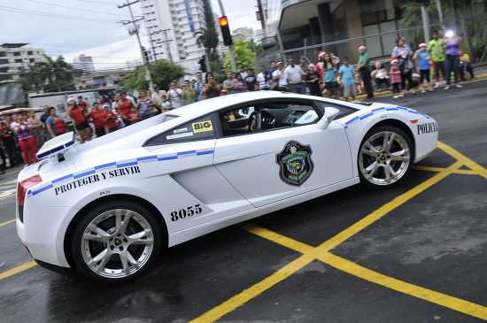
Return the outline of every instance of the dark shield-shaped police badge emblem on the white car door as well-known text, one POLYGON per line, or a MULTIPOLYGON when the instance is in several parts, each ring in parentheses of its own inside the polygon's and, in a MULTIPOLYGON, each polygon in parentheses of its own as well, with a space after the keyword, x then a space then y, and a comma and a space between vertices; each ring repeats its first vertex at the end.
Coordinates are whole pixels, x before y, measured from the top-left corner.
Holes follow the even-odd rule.
POLYGON ((301 186, 313 173, 313 150, 310 145, 296 141, 286 143, 275 161, 280 167, 279 176, 286 184, 301 186))

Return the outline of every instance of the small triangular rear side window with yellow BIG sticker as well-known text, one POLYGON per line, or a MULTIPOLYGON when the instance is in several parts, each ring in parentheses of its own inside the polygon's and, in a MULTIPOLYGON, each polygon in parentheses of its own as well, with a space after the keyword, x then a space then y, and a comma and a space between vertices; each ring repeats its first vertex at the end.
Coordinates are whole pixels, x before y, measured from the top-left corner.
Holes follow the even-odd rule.
POLYGON ((145 143, 145 146, 157 146, 176 142, 195 142, 215 138, 218 133, 212 115, 189 121, 175 127, 164 134, 157 135, 145 143))

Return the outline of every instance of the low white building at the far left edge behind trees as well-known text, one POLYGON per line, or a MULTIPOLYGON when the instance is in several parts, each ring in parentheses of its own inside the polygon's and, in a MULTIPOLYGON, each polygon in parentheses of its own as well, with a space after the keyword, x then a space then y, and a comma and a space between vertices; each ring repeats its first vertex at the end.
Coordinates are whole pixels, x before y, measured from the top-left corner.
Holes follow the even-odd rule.
POLYGON ((25 45, 27 43, 0 45, 0 84, 17 81, 28 65, 46 61, 44 49, 25 48, 25 45))

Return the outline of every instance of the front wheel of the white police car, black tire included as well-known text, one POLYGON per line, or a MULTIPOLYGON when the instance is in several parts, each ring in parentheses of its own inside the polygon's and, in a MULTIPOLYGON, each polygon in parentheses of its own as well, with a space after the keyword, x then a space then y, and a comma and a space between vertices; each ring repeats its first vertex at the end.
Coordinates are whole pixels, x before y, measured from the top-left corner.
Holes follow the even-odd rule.
MULTIPOLYGON (((387 149, 387 147, 385 148, 387 149)), ((367 188, 374 189, 385 189, 394 187, 398 185, 401 181, 404 181, 407 174, 411 170, 413 162, 413 142, 411 142, 411 139, 408 135, 404 133, 404 131, 402 131, 398 127, 393 126, 373 127, 364 136, 359 146, 357 167, 359 170, 360 183, 365 185, 367 188), (382 141, 385 141, 385 134, 390 134, 389 139, 395 138, 392 141, 388 140, 388 142, 391 142, 391 145, 390 150, 387 151, 384 150, 383 144, 381 146, 380 143, 381 135, 383 135, 382 141), (394 136, 392 136, 392 134, 394 134, 394 136), (366 147, 366 142, 370 143, 371 145, 366 147), (371 150, 370 148, 374 148, 375 150, 371 150), (408 150, 408 153, 403 154, 401 157, 390 155, 390 153, 397 155, 401 151, 406 151, 405 149, 408 150), (371 153, 373 154, 376 153, 377 156, 370 156, 364 153, 364 150, 371 151, 371 153), (398 158, 406 158, 406 155, 409 158, 407 160, 407 163, 406 161, 392 160, 398 158), (374 165, 374 163, 376 164, 374 165), (373 172, 375 166, 378 166, 378 168, 375 170, 375 172, 373 172), (372 177, 367 178, 370 175, 370 173, 367 172, 367 169, 369 169, 370 167, 372 167, 372 170, 370 171, 370 173, 372 173, 372 177), (389 173, 389 179, 387 173, 389 173), (398 175, 397 178, 394 178, 393 174, 398 175)))

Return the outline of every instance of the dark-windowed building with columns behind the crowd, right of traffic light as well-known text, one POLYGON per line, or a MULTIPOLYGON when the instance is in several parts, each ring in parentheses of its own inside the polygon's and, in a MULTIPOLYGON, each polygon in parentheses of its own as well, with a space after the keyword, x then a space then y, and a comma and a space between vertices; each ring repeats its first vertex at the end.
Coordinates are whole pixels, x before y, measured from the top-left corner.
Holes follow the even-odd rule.
MULTIPOLYGON (((282 46, 289 50, 306 45, 356 39, 398 29, 400 0, 256 0, 262 12, 264 48, 282 46)), ((372 58, 390 56, 396 33, 367 37, 327 47, 340 56, 358 57, 357 48, 366 45, 372 58)), ((272 49, 271 49, 272 50, 272 49)), ((316 50, 315 50, 316 51, 316 50)), ((296 52, 297 53, 297 52, 296 52)), ((313 53, 313 55, 316 53, 313 53)))

